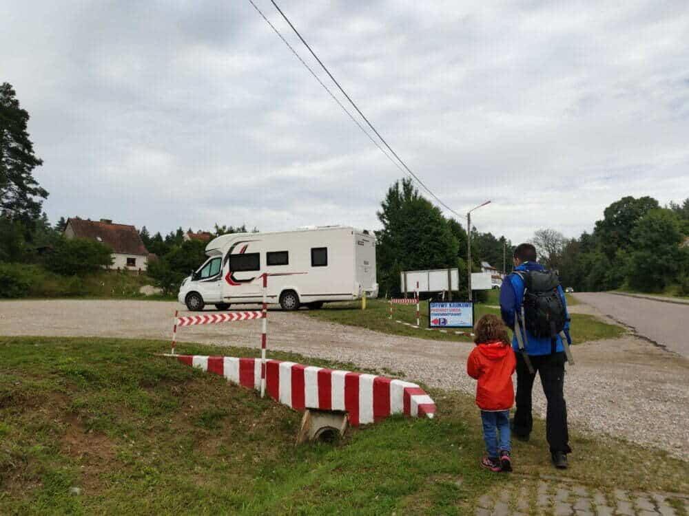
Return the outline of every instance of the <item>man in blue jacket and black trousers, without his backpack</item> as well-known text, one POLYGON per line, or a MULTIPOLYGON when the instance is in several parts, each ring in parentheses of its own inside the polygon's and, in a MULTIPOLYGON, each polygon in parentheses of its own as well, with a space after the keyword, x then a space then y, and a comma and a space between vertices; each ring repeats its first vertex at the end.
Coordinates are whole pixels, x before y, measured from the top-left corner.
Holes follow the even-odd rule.
MULTIPOLYGON (((524 303, 524 280, 517 272, 529 270, 545 271, 536 262, 536 248, 531 244, 520 244, 515 249, 514 272, 508 275, 500 288, 500 311, 505 324, 515 332, 512 347, 517 356, 517 410, 513 422, 513 433, 520 440, 527 441, 533 427, 531 417, 531 390, 536 372, 541 378, 543 392, 546 395, 548 409, 546 411, 546 438, 551 448, 553 464, 559 469, 567 467, 567 453, 570 453, 569 436, 567 431, 567 406, 564 400, 564 363, 565 353, 562 338, 555 336, 536 337, 526 331, 524 348, 528 357, 525 359, 517 341, 515 323, 521 321, 520 314, 524 303), (531 363, 531 367, 529 367, 531 363), (533 372, 529 369, 533 368, 533 372)), ((565 310, 566 323, 564 331, 569 332, 569 316, 562 287, 557 291, 561 297, 565 310)), ((522 323, 522 327, 524 327, 522 323)))

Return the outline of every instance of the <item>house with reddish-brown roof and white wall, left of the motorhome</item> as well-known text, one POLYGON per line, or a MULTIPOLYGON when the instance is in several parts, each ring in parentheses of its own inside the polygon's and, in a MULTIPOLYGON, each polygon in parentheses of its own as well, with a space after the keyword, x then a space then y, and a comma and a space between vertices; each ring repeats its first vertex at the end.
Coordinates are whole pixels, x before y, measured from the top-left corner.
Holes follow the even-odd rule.
POLYGON ((112 268, 146 270, 149 253, 134 226, 112 224, 110 219, 68 219, 63 232, 66 238, 88 238, 112 248, 112 268))

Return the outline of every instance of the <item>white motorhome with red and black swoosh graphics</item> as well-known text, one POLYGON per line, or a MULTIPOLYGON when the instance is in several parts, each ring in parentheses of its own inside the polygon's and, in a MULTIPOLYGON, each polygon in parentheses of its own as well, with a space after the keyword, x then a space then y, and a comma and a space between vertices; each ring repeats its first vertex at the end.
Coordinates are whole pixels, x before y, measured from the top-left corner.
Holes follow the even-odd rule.
POLYGON ((368 231, 321 226, 280 233, 232 233, 206 246, 208 259, 179 289, 189 310, 260 303, 264 272, 268 302, 283 310, 320 308, 327 301, 378 297, 376 239, 368 231))

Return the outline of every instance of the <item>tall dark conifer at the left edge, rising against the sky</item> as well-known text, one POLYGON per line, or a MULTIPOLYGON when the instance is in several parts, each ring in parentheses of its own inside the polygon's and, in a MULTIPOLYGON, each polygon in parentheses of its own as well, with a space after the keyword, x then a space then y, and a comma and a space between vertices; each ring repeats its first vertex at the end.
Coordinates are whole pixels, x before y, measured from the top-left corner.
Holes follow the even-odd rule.
POLYGON ((43 161, 34 154, 28 120, 12 86, 0 85, 0 215, 31 226, 41 215, 41 199, 48 192, 32 175, 43 161))

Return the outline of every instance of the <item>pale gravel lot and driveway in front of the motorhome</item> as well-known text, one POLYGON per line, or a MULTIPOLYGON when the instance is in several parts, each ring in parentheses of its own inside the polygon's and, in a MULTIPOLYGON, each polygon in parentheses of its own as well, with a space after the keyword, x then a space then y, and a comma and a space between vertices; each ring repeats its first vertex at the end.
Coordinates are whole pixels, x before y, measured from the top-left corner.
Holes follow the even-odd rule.
MULTIPOLYGON (((585 300, 581 294, 578 297, 585 300)), ((619 300, 615 297, 616 302, 619 300)), ((176 307, 176 303, 156 301, 2 302, 0 335, 169 339, 176 307)), ((598 315, 587 305, 577 305, 571 311, 598 315)), ((269 350, 351 362, 381 372, 386 367, 431 387, 470 394, 475 391, 474 381, 465 372, 471 343, 380 334, 279 310, 270 312, 268 332, 269 350)), ((177 335, 181 353, 185 341, 259 347, 260 323, 184 327, 177 335)), ((571 424, 650 444, 682 457, 681 450, 689 442, 687 358, 631 334, 579 344, 573 353, 576 365, 568 367, 565 381, 571 424)), ((534 409, 545 416, 545 400, 537 384, 534 409)))

